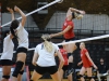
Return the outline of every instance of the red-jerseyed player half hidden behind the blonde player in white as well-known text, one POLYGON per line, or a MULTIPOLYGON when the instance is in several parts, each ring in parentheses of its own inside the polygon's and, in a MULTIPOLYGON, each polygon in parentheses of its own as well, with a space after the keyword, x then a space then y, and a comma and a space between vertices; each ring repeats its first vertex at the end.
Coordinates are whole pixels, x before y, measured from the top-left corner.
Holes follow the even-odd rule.
MULTIPOLYGON (((62 81, 62 79, 63 79, 63 75, 65 75, 65 72, 66 72, 66 70, 68 70, 68 66, 69 66, 69 59, 68 59, 68 53, 66 53, 66 51, 65 51, 65 48, 64 48, 64 45, 60 45, 60 52, 61 52, 61 54, 62 54, 62 56, 63 56, 63 58, 64 58, 64 65, 63 65, 63 67, 62 67, 62 69, 60 70, 60 78, 61 78, 61 81, 62 81)), ((69 81, 72 81, 72 73, 70 73, 69 76, 68 76, 68 80, 69 81)))

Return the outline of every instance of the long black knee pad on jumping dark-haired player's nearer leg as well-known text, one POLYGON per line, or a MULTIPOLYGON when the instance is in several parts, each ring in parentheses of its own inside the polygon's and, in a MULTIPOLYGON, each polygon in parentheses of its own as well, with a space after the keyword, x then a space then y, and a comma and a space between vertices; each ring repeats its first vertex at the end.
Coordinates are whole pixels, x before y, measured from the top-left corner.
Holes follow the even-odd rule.
POLYGON ((16 62, 16 66, 15 66, 15 69, 13 71, 13 75, 12 75, 13 77, 17 78, 17 75, 20 73, 20 70, 22 69, 23 65, 24 65, 23 62, 21 62, 21 60, 16 62))

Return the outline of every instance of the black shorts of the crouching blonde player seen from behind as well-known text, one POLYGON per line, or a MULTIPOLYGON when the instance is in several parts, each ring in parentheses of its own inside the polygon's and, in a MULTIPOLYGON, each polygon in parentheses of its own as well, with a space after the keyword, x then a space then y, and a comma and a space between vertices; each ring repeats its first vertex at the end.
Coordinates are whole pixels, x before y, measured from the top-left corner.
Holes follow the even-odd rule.
POLYGON ((38 72, 39 75, 44 75, 44 73, 50 73, 53 75, 58 71, 58 67, 57 66, 49 66, 49 67, 40 67, 40 66, 36 66, 35 67, 36 72, 38 72))

